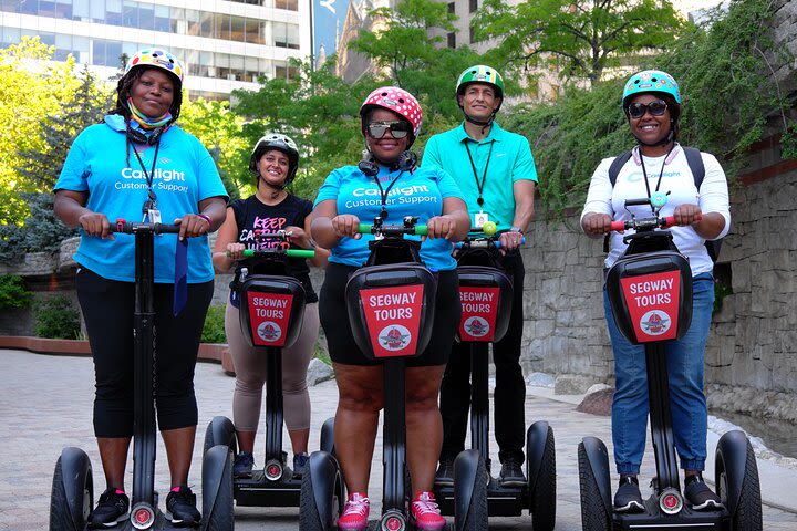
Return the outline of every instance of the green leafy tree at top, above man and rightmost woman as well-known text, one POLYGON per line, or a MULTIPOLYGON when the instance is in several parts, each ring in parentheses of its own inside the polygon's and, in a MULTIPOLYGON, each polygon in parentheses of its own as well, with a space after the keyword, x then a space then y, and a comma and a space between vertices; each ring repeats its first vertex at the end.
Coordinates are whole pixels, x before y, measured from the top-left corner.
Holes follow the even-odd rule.
POLYGON ((562 76, 594 83, 623 58, 667 48, 682 21, 669 0, 485 0, 473 25, 498 41, 490 58, 524 70, 551 58, 562 76))

